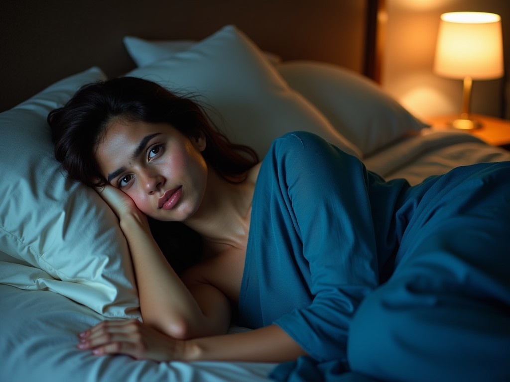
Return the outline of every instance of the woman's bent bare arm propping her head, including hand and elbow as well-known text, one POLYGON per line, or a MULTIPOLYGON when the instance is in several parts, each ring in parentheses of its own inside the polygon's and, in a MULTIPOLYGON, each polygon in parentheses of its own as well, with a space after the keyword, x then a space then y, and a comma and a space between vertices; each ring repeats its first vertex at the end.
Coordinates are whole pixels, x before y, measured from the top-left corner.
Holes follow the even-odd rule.
POLYGON ((207 302, 199 306, 168 264, 150 233, 147 217, 131 198, 112 186, 100 195, 119 217, 129 244, 144 322, 177 339, 226 333, 230 304, 223 293, 207 284, 194 285, 194 294, 207 302))

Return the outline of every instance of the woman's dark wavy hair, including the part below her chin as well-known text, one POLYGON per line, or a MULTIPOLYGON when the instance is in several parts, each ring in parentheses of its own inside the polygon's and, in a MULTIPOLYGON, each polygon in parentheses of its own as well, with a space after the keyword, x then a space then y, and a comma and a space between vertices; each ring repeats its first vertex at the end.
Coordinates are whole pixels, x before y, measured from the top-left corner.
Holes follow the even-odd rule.
MULTIPOLYGON (((168 123, 189 138, 202 133, 207 142, 203 157, 223 179, 232 183, 243 181, 246 171, 259 161, 250 147, 230 142, 193 96, 177 95, 145 79, 120 77, 83 86, 63 107, 48 115, 55 157, 71 179, 91 187, 107 183, 100 174, 95 153, 106 128, 119 119, 168 123)), ((176 271, 189 264, 180 264, 181 256, 173 259, 169 256, 184 250, 188 255, 195 252, 196 257, 196 252, 201 250, 199 236, 184 224, 156 222, 150 218, 149 223, 176 271), (193 244, 196 248, 190 248, 193 244)))

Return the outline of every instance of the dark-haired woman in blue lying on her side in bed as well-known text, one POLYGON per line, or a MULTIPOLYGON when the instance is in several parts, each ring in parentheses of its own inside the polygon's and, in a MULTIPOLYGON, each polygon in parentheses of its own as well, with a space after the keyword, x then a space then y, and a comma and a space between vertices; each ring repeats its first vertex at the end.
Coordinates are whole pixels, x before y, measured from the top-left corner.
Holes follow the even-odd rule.
POLYGON ((69 176, 119 217, 144 321, 101 322, 80 334, 81 349, 157 361, 308 356, 278 379, 510 373, 508 163, 411 187, 304 132, 258 163, 195 102, 131 77, 85 86, 48 122, 69 176), (202 238, 181 277, 147 216, 202 238), (232 316, 254 330, 225 335, 232 316))

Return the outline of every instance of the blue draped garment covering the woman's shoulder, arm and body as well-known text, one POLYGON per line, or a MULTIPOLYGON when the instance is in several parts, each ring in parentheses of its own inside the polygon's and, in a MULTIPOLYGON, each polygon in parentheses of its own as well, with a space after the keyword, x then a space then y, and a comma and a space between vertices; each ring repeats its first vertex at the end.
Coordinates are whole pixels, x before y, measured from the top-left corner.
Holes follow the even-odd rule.
POLYGON ((410 186, 286 134, 257 179, 239 323, 307 351, 280 380, 510 376, 509 216, 510 162, 410 186))

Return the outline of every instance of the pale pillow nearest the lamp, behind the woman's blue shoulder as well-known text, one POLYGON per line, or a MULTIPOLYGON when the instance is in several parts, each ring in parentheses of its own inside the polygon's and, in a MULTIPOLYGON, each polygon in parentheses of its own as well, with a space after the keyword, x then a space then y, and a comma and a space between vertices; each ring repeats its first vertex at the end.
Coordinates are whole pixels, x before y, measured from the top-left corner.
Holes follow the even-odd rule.
POLYGON ((363 156, 427 126, 361 74, 310 61, 282 63, 276 69, 363 156))

